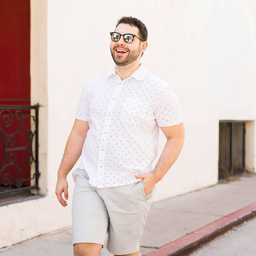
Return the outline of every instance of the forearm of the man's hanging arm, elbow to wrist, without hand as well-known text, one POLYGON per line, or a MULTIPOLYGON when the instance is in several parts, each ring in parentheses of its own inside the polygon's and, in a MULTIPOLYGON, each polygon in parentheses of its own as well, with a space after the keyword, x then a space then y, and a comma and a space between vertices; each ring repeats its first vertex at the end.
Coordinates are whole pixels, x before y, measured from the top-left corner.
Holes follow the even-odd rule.
POLYGON ((76 132, 70 133, 58 170, 58 178, 66 178, 68 172, 70 172, 76 164, 78 158, 82 154, 85 137, 86 136, 81 136, 76 132))

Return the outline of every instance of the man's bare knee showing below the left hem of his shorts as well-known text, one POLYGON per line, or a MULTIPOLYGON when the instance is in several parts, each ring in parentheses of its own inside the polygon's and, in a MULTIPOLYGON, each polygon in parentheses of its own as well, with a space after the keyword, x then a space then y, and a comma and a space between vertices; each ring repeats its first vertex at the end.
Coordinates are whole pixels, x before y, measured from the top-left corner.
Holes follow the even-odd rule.
POLYGON ((74 244, 74 256, 100 256, 102 244, 76 243, 74 244))

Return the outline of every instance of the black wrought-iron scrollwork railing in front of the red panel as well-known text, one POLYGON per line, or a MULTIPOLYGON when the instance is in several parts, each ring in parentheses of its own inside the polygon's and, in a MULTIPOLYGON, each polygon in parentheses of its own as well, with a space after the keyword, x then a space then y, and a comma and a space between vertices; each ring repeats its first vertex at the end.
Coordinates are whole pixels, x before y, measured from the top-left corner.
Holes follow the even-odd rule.
MULTIPOLYGON (((2 179, 0 180, 0 195, 8 194, 8 193, 14 193, 22 190, 28 190, 32 188, 38 188, 38 178, 39 178, 39 172, 38 172, 38 108, 39 104, 35 106, 4 106, 0 105, 0 139, 2 139, 2 152, 3 156, 2 163, 0 158, 0 177, 2 179), (22 113, 21 109, 35 109, 35 115, 24 115, 22 113), (15 111, 14 114, 12 111, 15 111), (14 118, 13 118, 14 117, 14 118), (22 127, 22 122, 24 118, 30 118, 33 119, 35 122, 35 130, 31 131, 28 129, 26 131, 26 138, 28 139, 28 143, 24 146, 15 147, 15 135, 20 132, 20 129, 22 127), (15 121, 16 120, 16 121, 15 121), (19 122, 18 127, 15 128, 15 131, 12 132, 11 126, 13 121, 16 123, 19 122), (35 142, 35 154, 33 154, 32 145, 33 142, 35 142), (15 163, 15 153, 17 151, 26 151, 28 152, 28 157, 26 159, 27 166, 31 166, 33 163, 35 163, 35 173, 32 175, 32 178, 24 179, 22 170, 20 167, 15 163), (17 170, 18 176, 15 180, 13 180, 12 173, 8 172, 8 168, 15 168, 17 170), (35 180, 34 186, 23 186, 24 181, 27 180, 35 180), (15 186, 13 185, 15 183, 15 186), (13 188, 14 187, 14 188, 13 188)), ((30 113, 29 111, 29 113, 30 113)), ((1 141, 1 140, 0 140, 1 141)), ((0 145, 1 147, 1 145, 0 145)), ((16 176, 17 176, 16 173, 16 176)))

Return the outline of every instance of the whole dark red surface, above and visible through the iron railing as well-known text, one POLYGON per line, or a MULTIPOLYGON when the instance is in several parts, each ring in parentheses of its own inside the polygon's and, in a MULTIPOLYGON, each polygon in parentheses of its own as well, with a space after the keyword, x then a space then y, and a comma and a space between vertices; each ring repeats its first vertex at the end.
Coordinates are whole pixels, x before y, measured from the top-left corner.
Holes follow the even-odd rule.
MULTIPOLYGON (((30 105, 30 1, 0 0, 0 105, 30 105)), ((12 114, 15 111, 12 111, 12 114)), ((30 111, 22 111, 30 115, 30 111)), ((13 116, 14 118, 14 116, 13 116)), ((0 125, 2 124, 0 117, 0 125)), ((13 120, 10 128, 3 128, 10 134, 18 129, 19 121, 13 120)), ((25 146, 29 138, 30 118, 23 118, 22 127, 15 135, 13 147, 25 146)), ((6 137, 5 137, 6 140, 6 137)), ((8 148, 12 146, 7 145, 8 148)), ((0 136, 0 168, 3 162, 3 141, 0 136)), ((14 163, 20 167, 23 179, 30 178, 30 167, 26 164, 29 154, 25 150, 9 152, 15 154, 14 163)), ((6 161, 4 162, 6 164, 6 161)), ((0 175, 3 184, 5 172, 12 174, 12 184, 20 177, 14 166, 8 166, 0 175)), ((25 181, 23 185, 30 185, 25 181)))

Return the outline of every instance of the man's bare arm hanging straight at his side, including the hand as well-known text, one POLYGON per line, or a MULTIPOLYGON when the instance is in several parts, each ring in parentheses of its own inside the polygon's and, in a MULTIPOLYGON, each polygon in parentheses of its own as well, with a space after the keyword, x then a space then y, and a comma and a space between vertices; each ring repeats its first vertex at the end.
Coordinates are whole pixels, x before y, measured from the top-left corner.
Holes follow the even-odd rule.
POLYGON ((64 155, 58 170, 58 180, 55 190, 55 194, 57 195, 60 204, 64 207, 68 204, 66 200, 63 199, 61 194, 64 192, 65 198, 68 199, 68 172, 70 172, 70 170, 76 164, 78 158, 81 156, 84 140, 88 130, 88 121, 81 121, 76 119, 68 137, 64 155))

